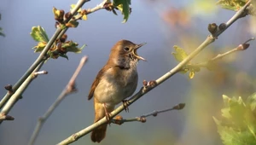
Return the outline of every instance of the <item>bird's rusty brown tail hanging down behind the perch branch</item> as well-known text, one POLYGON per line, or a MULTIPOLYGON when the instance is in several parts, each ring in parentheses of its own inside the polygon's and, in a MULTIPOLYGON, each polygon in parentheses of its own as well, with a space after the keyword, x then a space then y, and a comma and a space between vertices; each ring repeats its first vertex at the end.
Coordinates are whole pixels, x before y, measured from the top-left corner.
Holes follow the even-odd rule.
MULTIPOLYGON (((99 103, 95 99, 95 119, 94 122, 96 123, 98 120, 105 117, 105 108, 102 103, 99 103)), ((114 107, 107 107, 108 113, 111 113, 113 111, 114 107)), ((104 137, 106 136, 108 124, 104 124, 96 128, 94 131, 91 132, 90 139, 92 142, 101 142, 104 137)))

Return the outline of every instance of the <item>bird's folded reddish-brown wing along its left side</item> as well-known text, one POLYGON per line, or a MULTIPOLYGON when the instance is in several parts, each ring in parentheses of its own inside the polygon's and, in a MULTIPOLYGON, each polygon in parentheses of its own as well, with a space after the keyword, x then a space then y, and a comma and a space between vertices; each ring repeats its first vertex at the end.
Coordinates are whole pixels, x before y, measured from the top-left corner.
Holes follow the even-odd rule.
POLYGON ((94 79, 93 83, 91 84, 90 87, 90 93, 88 95, 88 100, 90 100, 94 94, 94 90, 96 89, 97 85, 100 83, 102 76, 104 72, 106 72, 110 67, 109 66, 104 66, 102 67, 101 71, 97 74, 96 78, 94 79))

